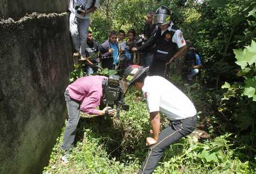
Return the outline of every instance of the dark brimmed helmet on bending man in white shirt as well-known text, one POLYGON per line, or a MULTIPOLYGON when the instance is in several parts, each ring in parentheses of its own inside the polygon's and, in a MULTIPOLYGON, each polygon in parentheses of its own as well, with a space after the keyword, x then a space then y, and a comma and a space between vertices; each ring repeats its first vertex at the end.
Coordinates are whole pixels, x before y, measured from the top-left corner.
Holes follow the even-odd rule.
POLYGON ((124 93, 127 91, 129 86, 136 81, 136 79, 140 78, 142 75, 145 75, 149 70, 148 67, 143 67, 139 65, 130 65, 123 72, 122 79, 122 88, 124 93))

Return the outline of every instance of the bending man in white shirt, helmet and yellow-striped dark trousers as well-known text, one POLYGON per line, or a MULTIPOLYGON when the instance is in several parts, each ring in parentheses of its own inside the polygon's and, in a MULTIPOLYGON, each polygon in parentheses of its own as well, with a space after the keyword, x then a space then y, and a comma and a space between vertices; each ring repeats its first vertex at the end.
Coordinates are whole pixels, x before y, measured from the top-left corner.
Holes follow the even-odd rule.
POLYGON ((148 67, 131 65, 124 71, 123 83, 142 90, 147 101, 152 125, 152 137, 147 137, 148 156, 139 173, 152 173, 163 151, 182 137, 192 133, 196 126, 196 110, 189 98, 176 86, 160 76, 147 76, 148 67), (160 112, 170 125, 160 132, 160 112))

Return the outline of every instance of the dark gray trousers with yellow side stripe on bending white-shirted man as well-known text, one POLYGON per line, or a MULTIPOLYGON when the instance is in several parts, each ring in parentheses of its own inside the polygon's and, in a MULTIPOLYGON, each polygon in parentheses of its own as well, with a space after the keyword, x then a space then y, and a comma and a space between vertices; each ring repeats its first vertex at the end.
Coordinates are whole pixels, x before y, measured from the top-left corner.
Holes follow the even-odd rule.
POLYGON ((196 116, 182 119, 180 121, 172 121, 170 126, 160 133, 156 144, 148 147, 148 155, 138 173, 153 173, 163 155, 163 151, 180 138, 192 133, 195 126, 196 116))

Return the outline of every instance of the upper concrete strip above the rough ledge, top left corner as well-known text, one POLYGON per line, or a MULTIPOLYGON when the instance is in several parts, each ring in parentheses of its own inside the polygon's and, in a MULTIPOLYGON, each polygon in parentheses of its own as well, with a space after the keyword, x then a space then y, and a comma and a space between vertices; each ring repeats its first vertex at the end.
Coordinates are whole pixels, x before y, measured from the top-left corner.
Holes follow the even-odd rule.
POLYGON ((69 0, 0 0, 0 19, 18 19, 25 14, 61 13, 68 9, 69 0))

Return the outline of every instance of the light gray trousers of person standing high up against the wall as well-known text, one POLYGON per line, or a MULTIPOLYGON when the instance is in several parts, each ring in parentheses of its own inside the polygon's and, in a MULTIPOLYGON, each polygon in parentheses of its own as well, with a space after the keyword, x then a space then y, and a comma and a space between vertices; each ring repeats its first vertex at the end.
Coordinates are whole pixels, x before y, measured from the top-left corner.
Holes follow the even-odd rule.
POLYGON ((74 13, 69 17, 69 31, 74 45, 74 49, 84 55, 86 51, 87 32, 90 19, 81 19, 76 17, 74 13))

